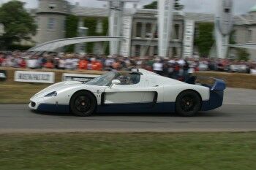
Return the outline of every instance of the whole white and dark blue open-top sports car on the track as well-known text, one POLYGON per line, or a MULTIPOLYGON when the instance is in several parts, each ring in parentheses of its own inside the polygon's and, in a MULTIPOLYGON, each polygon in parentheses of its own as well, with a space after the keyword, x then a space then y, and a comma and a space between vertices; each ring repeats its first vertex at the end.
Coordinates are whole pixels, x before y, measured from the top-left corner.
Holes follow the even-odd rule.
POLYGON ((195 85, 196 77, 180 82, 153 72, 108 72, 89 82, 59 82, 30 100, 40 112, 72 112, 89 116, 94 112, 177 112, 193 116, 198 111, 222 106, 225 82, 195 85))

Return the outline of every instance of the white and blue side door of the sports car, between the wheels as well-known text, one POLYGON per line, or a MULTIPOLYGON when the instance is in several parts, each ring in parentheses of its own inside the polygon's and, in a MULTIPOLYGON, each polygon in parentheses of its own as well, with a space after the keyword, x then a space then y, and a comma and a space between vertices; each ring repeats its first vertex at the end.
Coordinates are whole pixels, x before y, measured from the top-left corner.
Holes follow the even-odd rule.
POLYGON ((152 108, 157 104, 159 91, 162 91, 162 87, 150 86, 148 77, 140 75, 138 83, 113 85, 111 88, 106 88, 102 97, 102 105, 118 105, 122 107, 121 109, 140 111, 139 109, 152 108))

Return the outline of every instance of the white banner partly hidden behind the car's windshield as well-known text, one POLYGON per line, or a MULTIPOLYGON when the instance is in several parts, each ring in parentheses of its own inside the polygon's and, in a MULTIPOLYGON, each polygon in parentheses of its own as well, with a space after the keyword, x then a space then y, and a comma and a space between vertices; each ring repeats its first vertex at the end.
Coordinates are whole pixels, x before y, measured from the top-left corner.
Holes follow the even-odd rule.
POLYGON ((78 81, 78 82, 89 82, 99 75, 93 74, 68 74, 64 73, 62 75, 62 81, 78 81))

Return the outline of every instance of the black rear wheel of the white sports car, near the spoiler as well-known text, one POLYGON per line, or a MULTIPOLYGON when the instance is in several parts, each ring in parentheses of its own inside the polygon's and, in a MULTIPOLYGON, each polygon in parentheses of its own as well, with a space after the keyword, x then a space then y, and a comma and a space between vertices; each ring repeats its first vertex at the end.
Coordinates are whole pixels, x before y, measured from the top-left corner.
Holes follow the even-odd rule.
POLYGON ((176 99, 176 112, 184 117, 192 117, 200 110, 201 104, 201 98, 195 91, 186 90, 176 99))

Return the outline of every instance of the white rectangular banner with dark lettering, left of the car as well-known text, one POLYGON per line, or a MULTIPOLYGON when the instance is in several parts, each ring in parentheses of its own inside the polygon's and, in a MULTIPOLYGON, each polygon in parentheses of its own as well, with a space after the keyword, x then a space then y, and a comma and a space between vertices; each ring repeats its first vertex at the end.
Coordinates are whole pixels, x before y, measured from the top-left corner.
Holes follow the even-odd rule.
POLYGON ((15 82, 54 83, 55 73, 16 71, 14 80, 15 82))

